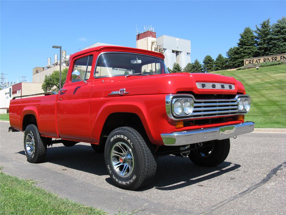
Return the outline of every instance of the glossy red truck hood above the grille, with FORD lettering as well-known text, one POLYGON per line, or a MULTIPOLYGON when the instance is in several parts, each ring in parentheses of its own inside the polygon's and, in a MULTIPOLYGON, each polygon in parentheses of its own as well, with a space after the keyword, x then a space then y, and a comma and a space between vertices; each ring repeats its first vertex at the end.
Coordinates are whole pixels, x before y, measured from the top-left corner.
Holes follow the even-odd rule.
MULTIPOLYGON (((114 76, 105 79, 104 96, 112 91, 125 88, 126 95, 166 94, 177 92, 193 92, 195 94, 245 94, 241 82, 233 77, 210 73, 170 73, 148 76, 114 76), (233 84, 234 90, 229 89, 198 89, 196 83, 233 84)), ((115 96, 115 95, 114 95, 115 96)))

